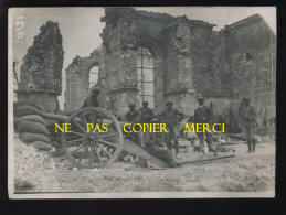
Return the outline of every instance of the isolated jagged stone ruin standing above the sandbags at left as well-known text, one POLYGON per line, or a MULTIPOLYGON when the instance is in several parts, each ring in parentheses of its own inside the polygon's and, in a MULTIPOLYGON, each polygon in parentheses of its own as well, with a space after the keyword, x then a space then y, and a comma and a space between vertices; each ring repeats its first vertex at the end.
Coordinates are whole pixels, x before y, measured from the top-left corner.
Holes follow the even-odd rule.
POLYGON ((59 24, 47 21, 34 37, 20 67, 19 101, 29 100, 54 112, 62 92, 63 45, 59 24))

